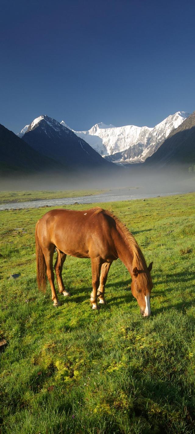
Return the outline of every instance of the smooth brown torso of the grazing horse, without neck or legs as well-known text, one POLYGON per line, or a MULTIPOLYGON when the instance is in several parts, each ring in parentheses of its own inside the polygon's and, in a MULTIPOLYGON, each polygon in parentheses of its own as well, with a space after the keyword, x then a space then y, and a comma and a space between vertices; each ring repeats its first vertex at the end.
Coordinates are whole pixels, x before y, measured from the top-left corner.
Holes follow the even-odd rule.
POLYGON ((39 220, 44 242, 77 257, 109 256, 114 251, 114 220, 101 208, 51 210, 39 220))

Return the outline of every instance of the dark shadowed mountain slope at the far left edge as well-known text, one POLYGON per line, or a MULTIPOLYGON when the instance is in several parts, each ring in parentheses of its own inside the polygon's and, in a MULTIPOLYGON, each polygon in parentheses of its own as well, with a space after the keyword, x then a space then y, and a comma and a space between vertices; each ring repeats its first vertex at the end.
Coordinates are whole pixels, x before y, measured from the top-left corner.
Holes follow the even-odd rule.
MULTIPOLYGON (((22 174, 58 170, 58 164, 27 145, 12 131, 0 125, 0 171, 2 174, 22 174)), ((62 169, 62 165, 61 165, 62 169)))

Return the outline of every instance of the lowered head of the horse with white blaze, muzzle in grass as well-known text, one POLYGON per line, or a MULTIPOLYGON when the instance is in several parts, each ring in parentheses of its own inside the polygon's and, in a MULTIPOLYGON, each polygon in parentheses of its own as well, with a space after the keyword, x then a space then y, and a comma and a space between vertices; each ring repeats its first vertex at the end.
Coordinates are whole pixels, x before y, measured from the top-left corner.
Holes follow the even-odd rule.
POLYGON ((133 268, 131 292, 140 306, 142 316, 149 316, 151 314, 150 293, 153 283, 150 271, 152 267, 153 263, 151 262, 146 270, 138 270, 137 267, 133 268))

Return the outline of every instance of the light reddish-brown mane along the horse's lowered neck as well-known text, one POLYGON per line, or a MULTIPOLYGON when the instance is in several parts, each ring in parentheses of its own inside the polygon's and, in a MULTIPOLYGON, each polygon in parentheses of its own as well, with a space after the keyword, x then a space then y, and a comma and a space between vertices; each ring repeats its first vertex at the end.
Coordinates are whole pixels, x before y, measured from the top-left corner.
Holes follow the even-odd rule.
POLYGON ((99 213, 106 214, 115 220, 117 225, 117 230, 122 235, 124 242, 128 245, 132 253, 133 256, 132 268, 134 269, 136 267, 138 270, 138 276, 137 276, 139 282, 138 292, 140 288, 140 292, 143 291, 144 293, 146 293, 149 286, 150 275, 147 269, 146 260, 135 238, 133 237, 133 234, 128 230, 125 224, 123 224, 119 220, 119 218, 116 217, 111 211, 104 210, 103 208, 97 207, 94 209, 93 216, 99 213))

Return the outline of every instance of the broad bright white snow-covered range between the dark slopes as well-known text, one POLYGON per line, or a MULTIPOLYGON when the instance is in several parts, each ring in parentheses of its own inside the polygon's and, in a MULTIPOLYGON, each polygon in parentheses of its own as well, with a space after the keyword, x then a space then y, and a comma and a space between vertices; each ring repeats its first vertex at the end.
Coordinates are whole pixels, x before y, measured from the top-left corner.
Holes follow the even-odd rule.
MULTIPOLYGON (((188 116, 187 112, 176 112, 153 128, 135 125, 114 127, 101 122, 88 131, 71 131, 83 138, 99 154, 109 156, 106 157, 107 160, 143 162, 156 152, 170 132, 188 116)), ((66 125, 64 121, 61 124, 66 125)))

